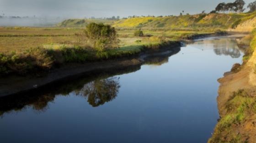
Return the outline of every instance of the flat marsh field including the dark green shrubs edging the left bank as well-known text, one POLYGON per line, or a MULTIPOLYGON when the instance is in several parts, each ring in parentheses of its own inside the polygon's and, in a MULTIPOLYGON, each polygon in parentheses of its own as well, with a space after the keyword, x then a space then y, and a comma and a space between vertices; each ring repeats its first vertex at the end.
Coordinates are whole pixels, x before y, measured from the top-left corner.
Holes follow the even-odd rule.
POLYGON ((137 54, 157 48, 183 36, 209 31, 118 29, 118 48, 97 52, 83 36, 85 28, 0 27, 0 75, 38 73, 67 62, 99 61, 137 54), (80 36, 77 36, 80 34, 80 36))

